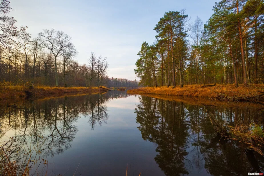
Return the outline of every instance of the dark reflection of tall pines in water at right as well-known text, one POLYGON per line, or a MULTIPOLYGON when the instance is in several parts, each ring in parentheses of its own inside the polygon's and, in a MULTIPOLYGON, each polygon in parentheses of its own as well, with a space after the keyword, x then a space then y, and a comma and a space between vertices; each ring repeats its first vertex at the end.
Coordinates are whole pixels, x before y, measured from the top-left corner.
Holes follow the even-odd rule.
POLYGON ((245 144, 215 134, 205 109, 229 125, 237 121, 263 124, 263 111, 189 105, 145 96, 139 99, 135 109, 138 129, 144 140, 157 144, 155 161, 166 175, 193 171, 198 175, 203 167, 211 175, 244 175, 258 167, 263 171, 262 157, 255 154, 258 164, 254 166, 245 153, 245 144))

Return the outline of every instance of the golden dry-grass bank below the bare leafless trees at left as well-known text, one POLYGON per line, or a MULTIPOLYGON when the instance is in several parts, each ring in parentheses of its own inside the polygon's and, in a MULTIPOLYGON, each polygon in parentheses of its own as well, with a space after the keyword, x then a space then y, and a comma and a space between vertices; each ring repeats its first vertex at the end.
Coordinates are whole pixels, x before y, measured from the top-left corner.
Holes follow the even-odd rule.
POLYGON ((28 86, 1 86, 0 100, 25 98, 27 93, 33 97, 49 97, 57 94, 72 94, 72 93, 102 93, 107 91, 106 87, 43 87, 35 86, 30 89, 28 86), (26 93, 27 92, 27 93, 26 93))

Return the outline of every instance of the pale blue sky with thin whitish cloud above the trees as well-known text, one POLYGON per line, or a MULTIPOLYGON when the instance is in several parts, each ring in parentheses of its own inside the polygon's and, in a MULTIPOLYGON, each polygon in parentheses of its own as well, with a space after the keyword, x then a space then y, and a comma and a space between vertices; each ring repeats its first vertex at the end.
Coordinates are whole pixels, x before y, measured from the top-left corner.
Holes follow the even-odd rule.
POLYGON ((32 37, 42 29, 64 31, 72 37, 79 63, 86 63, 93 51, 107 57, 109 77, 134 80, 141 44, 153 43, 153 28, 166 11, 185 8, 192 22, 199 16, 205 23, 214 4, 215 0, 11 0, 10 16, 17 25, 28 26, 32 37))

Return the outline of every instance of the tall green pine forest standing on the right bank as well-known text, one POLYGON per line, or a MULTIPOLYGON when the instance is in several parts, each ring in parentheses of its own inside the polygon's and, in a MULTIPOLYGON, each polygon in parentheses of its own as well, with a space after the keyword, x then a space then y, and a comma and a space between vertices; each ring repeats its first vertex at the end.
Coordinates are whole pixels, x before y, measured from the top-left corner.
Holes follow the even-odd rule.
POLYGON ((152 45, 142 43, 135 73, 144 86, 263 83, 263 0, 221 0, 203 25, 181 11, 158 21, 152 45))

